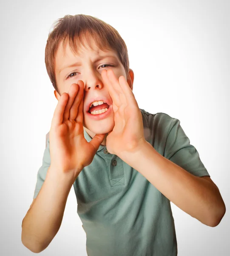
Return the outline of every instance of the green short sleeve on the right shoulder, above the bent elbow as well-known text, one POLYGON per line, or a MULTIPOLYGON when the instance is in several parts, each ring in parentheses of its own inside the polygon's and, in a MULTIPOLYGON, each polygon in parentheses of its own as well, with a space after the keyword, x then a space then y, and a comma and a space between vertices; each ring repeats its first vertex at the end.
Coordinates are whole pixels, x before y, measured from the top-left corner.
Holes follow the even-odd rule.
POLYGON ((190 144, 190 140, 183 131, 180 121, 176 118, 173 118, 168 131, 165 143, 165 158, 195 176, 210 177, 207 169, 200 160, 198 151, 190 144))

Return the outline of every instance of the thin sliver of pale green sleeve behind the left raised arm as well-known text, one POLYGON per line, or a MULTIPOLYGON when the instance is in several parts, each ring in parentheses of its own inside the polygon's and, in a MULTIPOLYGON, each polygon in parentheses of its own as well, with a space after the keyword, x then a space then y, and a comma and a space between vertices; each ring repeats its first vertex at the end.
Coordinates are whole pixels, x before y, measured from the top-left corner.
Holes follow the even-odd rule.
POLYGON ((50 152, 49 152, 49 136, 48 136, 48 134, 46 134, 45 151, 43 154, 43 164, 37 172, 37 183, 36 183, 35 190, 34 190, 34 198, 37 197, 38 192, 40 191, 40 189, 45 181, 45 176, 46 176, 47 170, 50 166, 50 163, 51 163, 51 160, 50 160, 50 152))

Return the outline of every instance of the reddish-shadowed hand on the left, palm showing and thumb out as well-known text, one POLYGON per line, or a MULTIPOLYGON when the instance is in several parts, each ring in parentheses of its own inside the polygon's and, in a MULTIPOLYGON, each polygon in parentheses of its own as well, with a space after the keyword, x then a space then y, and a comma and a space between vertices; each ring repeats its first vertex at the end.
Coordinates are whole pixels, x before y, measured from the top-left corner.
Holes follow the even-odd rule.
POLYGON ((49 132, 51 165, 57 171, 77 178, 88 166, 104 140, 105 134, 96 134, 88 143, 83 129, 84 83, 72 84, 68 93, 62 93, 49 132))

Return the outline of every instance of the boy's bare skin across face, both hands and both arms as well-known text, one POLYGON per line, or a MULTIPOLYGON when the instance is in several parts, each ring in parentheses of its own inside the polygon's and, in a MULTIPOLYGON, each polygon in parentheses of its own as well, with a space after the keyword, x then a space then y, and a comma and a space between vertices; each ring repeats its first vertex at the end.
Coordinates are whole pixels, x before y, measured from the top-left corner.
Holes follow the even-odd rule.
POLYGON ((82 168, 92 162, 100 144, 106 145, 111 154, 140 172, 184 212, 208 226, 218 225, 226 208, 210 177, 190 174, 159 154, 145 140, 142 114, 132 92, 133 71, 129 70, 126 76, 112 50, 102 52, 97 47, 80 47, 80 55, 75 55, 68 44, 64 52, 60 47, 56 54, 55 73, 61 95, 54 91, 58 104, 50 129, 51 166, 23 224, 26 225, 22 234, 24 244, 36 253, 48 246, 60 228, 72 184, 82 168), (102 54, 104 57, 96 62, 102 54), (111 54, 113 57, 108 57, 111 54), (76 61, 80 61, 79 67, 62 70, 76 61), (114 67, 101 67, 108 63, 114 67), (71 71, 77 73, 65 79, 71 71), (108 117, 95 121, 85 115, 84 103, 102 95, 111 100, 113 109, 108 117), (84 138, 83 127, 92 137, 89 143, 84 138), (56 189, 57 183, 60 190, 56 191, 54 200, 50 188, 55 186, 56 189), (39 225, 39 220, 46 224, 39 225), (48 235, 44 237, 44 234, 48 235))

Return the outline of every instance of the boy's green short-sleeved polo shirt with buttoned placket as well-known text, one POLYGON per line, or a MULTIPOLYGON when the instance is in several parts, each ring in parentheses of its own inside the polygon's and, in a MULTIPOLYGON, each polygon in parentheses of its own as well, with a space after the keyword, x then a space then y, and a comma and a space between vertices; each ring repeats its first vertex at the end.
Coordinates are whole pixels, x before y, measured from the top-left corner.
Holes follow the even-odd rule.
MULTIPOLYGON (((195 176, 210 176, 178 119, 140 110, 145 140, 159 154, 195 176)), ((85 130, 84 136, 91 141, 85 130)), ((48 136, 46 139, 34 198, 50 166, 48 136)), ((88 256, 177 255, 170 201, 138 171, 110 154, 106 146, 99 146, 92 163, 82 169, 73 186, 88 256)))

